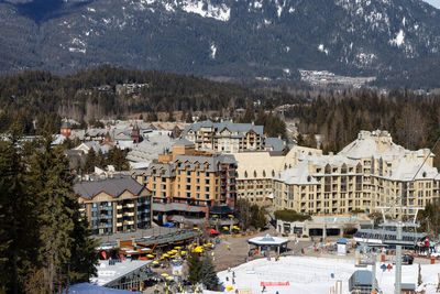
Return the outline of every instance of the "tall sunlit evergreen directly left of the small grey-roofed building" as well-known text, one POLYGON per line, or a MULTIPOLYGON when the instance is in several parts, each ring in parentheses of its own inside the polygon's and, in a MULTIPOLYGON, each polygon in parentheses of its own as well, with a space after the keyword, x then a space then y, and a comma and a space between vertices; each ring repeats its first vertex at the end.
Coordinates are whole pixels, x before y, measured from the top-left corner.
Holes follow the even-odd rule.
MULTIPOLYGON (((42 276, 45 285, 43 291, 54 293, 66 286, 70 264, 79 272, 78 275, 88 276, 94 272, 90 264, 92 262, 84 265, 87 270, 76 266, 79 260, 92 257, 92 248, 89 243, 91 241, 86 241, 88 232, 78 224, 78 203, 73 192, 73 176, 62 149, 52 149, 50 135, 46 135, 43 150, 35 153, 30 172, 30 189, 36 199, 36 224, 41 242, 41 271, 36 274, 42 276), (82 251, 77 250, 77 246, 82 246, 82 251)), ((78 275, 74 274, 80 280, 78 275)))

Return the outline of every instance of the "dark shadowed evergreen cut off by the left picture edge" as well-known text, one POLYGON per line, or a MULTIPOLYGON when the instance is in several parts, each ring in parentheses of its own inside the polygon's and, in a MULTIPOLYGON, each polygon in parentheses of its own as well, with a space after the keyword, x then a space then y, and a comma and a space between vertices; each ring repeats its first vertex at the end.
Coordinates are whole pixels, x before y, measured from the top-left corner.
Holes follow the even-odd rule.
POLYGON ((0 141, 0 292, 23 292, 38 246, 18 137, 0 141), (2 287, 2 288, 1 288, 2 287))

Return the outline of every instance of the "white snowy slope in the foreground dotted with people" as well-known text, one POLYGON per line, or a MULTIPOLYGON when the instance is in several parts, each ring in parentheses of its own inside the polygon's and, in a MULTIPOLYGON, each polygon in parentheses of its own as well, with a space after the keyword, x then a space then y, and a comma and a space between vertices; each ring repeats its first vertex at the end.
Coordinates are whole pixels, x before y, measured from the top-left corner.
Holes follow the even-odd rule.
MULTIPOLYGON (((349 293, 349 279, 356 270, 365 270, 364 268, 355 268, 354 260, 348 259, 324 259, 324 258, 307 258, 307 257, 286 257, 275 261, 272 258, 258 259, 237 268, 231 272, 223 271, 218 273, 220 281, 226 287, 232 286, 233 290, 227 293, 235 293, 235 290, 242 290, 245 293, 261 293, 261 282, 280 282, 286 286, 267 286, 265 293, 287 294, 328 294, 330 287, 334 286, 338 280, 342 280, 342 293, 349 293), (232 272, 235 273, 235 284, 232 284, 232 272), (331 277, 331 274, 334 277, 331 277), (229 281, 226 280, 228 276, 229 281), (246 291, 248 290, 248 291, 246 291)), ((391 271, 383 272, 377 262, 376 280, 383 293, 394 293, 394 268, 391 271)), ((367 269, 371 270, 371 266, 367 269)), ((438 283, 438 273, 440 273, 440 264, 422 264, 421 277, 426 288, 426 294, 436 293, 438 283)), ((417 284, 418 264, 403 265, 403 283, 417 284)), ((213 292, 206 292, 213 293, 213 292)))

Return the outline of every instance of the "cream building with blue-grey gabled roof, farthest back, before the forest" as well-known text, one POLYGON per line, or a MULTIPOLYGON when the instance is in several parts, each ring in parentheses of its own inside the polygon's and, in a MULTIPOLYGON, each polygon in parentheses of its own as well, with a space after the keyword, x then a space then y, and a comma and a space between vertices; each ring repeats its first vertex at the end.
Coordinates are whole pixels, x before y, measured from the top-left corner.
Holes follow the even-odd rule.
POLYGON ((207 120, 186 126, 184 137, 194 142, 197 150, 237 153, 261 151, 265 148, 263 126, 253 123, 207 120))

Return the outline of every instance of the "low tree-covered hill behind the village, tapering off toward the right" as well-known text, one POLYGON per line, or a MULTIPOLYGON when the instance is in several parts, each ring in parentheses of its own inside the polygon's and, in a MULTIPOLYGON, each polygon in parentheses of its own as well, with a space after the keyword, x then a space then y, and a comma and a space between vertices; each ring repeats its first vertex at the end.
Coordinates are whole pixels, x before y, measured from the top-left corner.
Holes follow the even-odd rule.
POLYGON ((215 110, 229 116, 234 109, 245 108, 248 99, 271 99, 276 105, 298 102, 296 97, 279 91, 262 92, 194 76, 102 66, 66 77, 25 72, 0 79, 0 120, 7 123, 19 113, 29 128, 33 119, 44 124, 50 113, 78 121, 173 110, 215 110), (123 84, 140 86, 127 90, 123 84))

